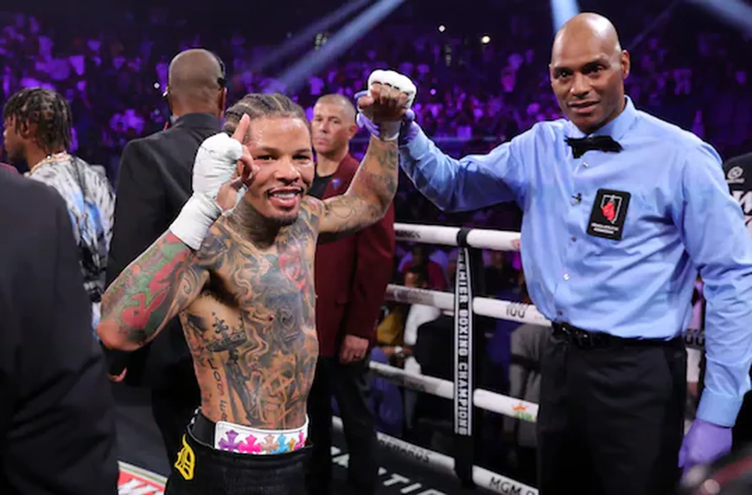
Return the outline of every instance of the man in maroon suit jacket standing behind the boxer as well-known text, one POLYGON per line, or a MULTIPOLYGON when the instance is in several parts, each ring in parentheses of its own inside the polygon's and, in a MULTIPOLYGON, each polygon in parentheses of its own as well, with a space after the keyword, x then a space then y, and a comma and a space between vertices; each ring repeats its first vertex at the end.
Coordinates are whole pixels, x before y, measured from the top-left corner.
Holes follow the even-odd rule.
MULTIPOLYGON (((355 108, 341 95, 317 101, 312 122, 317 171, 309 194, 329 198, 347 191, 358 168, 350 155, 355 108)), ((316 252, 316 327, 320 355, 308 397, 308 438, 314 444, 308 493, 327 495, 332 478, 332 394, 350 453, 347 482, 353 493, 373 495, 378 481, 374 416, 368 406, 369 352, 384 291, 392 277, 394 207, 381 222, 316 252)))

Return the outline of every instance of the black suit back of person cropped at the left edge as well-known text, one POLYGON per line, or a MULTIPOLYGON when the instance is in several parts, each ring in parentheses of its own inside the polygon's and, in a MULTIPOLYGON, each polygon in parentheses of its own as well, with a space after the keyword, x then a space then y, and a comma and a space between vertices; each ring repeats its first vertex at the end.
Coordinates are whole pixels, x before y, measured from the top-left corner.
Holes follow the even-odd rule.
POLYGON ((62 197, 0 170, 0 493, 116 495, 114 401, 62 197))

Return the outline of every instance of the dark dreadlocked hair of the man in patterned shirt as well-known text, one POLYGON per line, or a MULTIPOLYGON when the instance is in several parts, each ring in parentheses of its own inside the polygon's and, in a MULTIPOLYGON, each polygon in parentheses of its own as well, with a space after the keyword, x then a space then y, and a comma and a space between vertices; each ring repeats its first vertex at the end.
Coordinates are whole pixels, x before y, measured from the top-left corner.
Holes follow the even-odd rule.
POLYGON ((28 138, 35 126, 34 139, 46 153, 68 150, 73 116, 68 101, 51 89, 21 89, 5 103, 3 121, 14 119, 16 132, 28 138))

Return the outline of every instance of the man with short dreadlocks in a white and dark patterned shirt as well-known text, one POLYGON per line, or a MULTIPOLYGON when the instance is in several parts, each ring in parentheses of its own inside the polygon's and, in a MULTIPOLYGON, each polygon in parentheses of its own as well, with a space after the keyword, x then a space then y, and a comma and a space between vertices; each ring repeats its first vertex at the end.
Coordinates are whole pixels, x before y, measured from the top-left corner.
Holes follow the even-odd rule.
POLYGON ((50 89, 26 88, 3 109, 3 143, 8 159, 26 161, 27 177, 52 186, 68 207, 78 245, 83 288, 92 303, 92 325, 99 323, 105 268, 112 237, 115 198, 107 177, 71 155, 71 107, 50 89))

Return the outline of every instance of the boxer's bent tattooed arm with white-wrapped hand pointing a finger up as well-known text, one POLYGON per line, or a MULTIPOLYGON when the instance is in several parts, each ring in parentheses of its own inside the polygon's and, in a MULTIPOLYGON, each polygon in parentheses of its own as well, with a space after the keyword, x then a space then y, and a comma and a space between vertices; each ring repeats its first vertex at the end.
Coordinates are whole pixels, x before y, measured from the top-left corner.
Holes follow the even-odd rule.
POLYGON ((201 260, 197 260, 194 252, 221 211, 235 206, 241 196, 238 189, 253 179, 253 161, 245 146, 239 144, 249 122, 247 116, 241 119, 232 138, 220 133, 202 144, 193 169, 193 196, 180 216, 105 292, 97 333, 108 349, 132 351, 144 346, 199 295, 208 280, 208 270, 203 267, 211 264, 212 253, 202 251, 201 260), (235 178, 222 183, 232 171, 211 170, 219 162, 202 156, 216 153, 212 145, 228 139, 236 141, 232 152, 239 161, 235 178), (214 201, 216 204, 212 204, 214 201))

